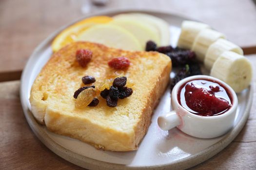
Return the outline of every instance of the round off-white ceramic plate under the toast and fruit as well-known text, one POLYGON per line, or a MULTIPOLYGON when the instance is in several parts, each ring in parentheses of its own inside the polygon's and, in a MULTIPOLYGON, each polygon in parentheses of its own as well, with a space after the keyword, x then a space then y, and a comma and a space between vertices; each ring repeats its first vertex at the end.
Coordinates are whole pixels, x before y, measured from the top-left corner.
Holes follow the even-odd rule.
MULTIPOLYGON (((126 12, 143 12, 166 20, 170 24, 170 43, 173 46, 176 46, 181 22, 187 19, 162 12, 138 10, 109 11, 94 15, 114 16, 126 12)), ((91 16, 93 15, 87 17, 91 16)), ((40 69, 52 55, 50 45, 53 38, 67 26, 51 34, 35 49, 23 70, 20 85, 21 104, 31 129, 50 150, 67 161, 87 169, 186 169, 220 152, 237 136, 244 126, 252 104, 252 85, 237 95, 238 109, 234 128, 224 136, 217 138, 200 139, 188 136, 176 128, 170 131, 159 129, 157 125, 158 116, 171 109, 169 88, 154 111, 152 123, 140 143, 138 151, 109 152, 96 150, 91 145, 79 140, 49 132, 45 126, 40 125, 34 119, 30 112, 28 99, 31 85, 40 69)))

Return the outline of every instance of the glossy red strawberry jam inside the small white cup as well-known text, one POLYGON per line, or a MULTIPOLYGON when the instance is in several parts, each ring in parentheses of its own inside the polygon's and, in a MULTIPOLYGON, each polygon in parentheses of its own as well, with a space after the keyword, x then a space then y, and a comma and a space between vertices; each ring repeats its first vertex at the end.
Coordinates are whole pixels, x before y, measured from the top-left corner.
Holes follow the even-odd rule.
POLYGON ((192 80, 181 85, 178 91, 179 104, 199 116, 216 116, 232 106, 229 90, 213 80, 192 80))

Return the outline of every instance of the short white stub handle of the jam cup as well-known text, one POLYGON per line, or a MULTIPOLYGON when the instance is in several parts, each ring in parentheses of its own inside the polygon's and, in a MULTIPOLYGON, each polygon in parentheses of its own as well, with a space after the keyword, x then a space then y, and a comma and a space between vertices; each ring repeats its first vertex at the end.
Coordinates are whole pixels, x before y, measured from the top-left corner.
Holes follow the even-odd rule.
POLYGON ((158 117, 158 126, 162 130, 168 131, 179 124, 179 117, 175 110, 158 117))

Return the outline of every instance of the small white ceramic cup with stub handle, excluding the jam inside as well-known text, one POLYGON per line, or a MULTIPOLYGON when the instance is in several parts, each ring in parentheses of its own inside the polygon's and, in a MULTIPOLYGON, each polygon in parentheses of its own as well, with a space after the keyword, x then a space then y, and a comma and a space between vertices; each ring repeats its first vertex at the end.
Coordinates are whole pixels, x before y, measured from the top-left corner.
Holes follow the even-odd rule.
POLYGON ((171 95, 173 111, 158 117, 158 125, 162 130, 170 130, 177 127, 182 132, 199 138, 213 138, 221 136, 227 133, 234 125, 237 102, 235 91, 221 80, 206 75, 187 77, 179 81, 174 86, 171 95), (229 90, 233 101, 231 108, 221 115, 205 117, 193 114, 182 107, 177 99, 178 90, 184 83, 195 79, 213 80, 225 86, 226 89, 229 90))

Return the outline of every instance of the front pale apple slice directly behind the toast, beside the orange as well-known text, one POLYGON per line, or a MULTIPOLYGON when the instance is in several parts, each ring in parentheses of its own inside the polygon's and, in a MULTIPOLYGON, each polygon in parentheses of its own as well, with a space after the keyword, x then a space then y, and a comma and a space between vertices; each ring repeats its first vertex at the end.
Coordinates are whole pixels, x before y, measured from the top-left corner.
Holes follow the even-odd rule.
POLYGON ((133 34, 114 24, 92 26, 80 33, 78 40, 100 43, 123 50, 142 51, 138 39, 133 34))

